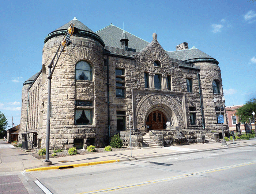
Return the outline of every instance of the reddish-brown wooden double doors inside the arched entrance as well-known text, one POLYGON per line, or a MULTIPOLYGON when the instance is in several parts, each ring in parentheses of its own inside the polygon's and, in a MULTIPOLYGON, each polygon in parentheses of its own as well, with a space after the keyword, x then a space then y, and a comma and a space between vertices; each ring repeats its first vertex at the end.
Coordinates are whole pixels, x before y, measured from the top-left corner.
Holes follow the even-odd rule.
POLYGON ((166 117, 162 111, 153 111, 148 115, 146 124, 149 126, 148 130, 166 129, 166 117))

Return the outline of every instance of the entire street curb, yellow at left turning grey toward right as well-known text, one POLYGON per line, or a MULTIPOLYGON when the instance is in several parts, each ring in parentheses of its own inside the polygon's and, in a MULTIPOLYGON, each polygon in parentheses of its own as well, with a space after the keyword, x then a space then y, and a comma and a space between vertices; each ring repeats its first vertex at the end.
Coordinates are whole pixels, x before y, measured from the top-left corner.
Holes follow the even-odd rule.
POLYGON ((139 156, 139 157, 124 158, 124 159, 109 160, 109 161, 87 162, 87 163, 80 163, 80 164, 74 164, 74 165, 47 166, 47 167, 39 167, 39 168, 34 168, 34 169, 26 169, 25 171, 26 172, 31 172, 31 171, 41 171, 41 170, 69 169, 69 168, 75 168, 75 167, 81 167, 81 166, 100 165, 100 164, 106 164, 106 163, 116 163, 116 162, 125 162, 125 161, 134 161, 134 160, 140 160, 140 159, 166 157, 166 156, 172 156, 172 155, 182 155, 182 154, 198 153, 198 152, 206 152, 206 151, 214 151, 214 150, 223 150, 223 149, 232 149, 232 148, 247 147, 247 146, 256 146, 256 143, 246 144, 246 145, 239 145, 239 146, 233 146, 232 145, 232 147, 225 146, 225 147, 218 147, 218 148, 205 149, 205 150, 193 150, 193 151, 175 152, 175 153, 158 154, 158 155, 155 154, 155 155, 150 155, 150 156, 141 156, 141 157, 139 156))

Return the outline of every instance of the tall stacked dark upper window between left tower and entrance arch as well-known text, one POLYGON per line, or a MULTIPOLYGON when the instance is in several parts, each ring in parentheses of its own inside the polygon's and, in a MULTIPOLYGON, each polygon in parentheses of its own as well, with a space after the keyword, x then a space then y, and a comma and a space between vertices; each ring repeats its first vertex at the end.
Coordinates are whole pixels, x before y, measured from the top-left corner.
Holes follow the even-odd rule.
POLYGON ((116 97, 125 97, 124 69, 116 69, 116 97))

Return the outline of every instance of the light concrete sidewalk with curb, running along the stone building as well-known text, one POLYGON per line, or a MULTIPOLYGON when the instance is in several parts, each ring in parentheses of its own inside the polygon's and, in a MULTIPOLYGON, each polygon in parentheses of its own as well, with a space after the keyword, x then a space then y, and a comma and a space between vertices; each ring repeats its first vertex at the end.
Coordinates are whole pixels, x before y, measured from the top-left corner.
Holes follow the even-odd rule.
POLYGON ((154 158, 161 156, 177 155, 184 153, 196 153, 202 151, 230 149, 243 146, 256 146, 256 139, 238 140, 227 142, 228 146, 221 146, 221 143, 190 144, 185 146, 170 146, 155 149, 135 149, 131 151, 110 151, 107 153, 95 153, 86 155, 72 155, 68 157, 50 158, 52 165, 43 166, 44 159, 38 160, 27 154, 25 151, 0 140, 0 174, 17 171, 34 171, 61 169, 69 167, 97 165, 101 163, 121 162, 136 159, 154 158))

